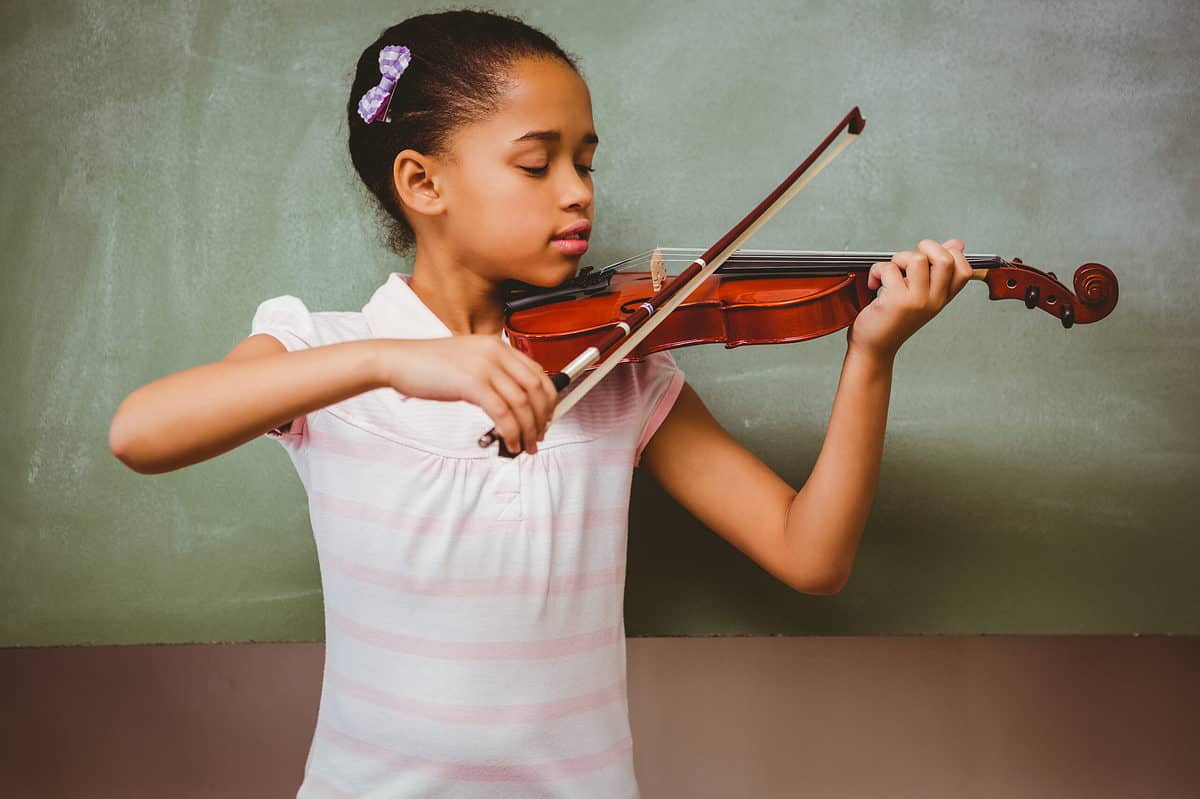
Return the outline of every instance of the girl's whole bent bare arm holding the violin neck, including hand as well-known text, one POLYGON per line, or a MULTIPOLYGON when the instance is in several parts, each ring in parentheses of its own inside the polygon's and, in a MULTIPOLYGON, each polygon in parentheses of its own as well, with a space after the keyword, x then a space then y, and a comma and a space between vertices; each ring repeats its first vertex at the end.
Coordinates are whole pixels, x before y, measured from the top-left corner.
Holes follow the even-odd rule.
POLYGON ((962 242, 923 240, 871 268, 882 287, 847 332, 829 429, 796 491, 718 423, 689 385, 642 452, 680 505, 772 575, 805 594, 850 579, 883 456, 892 371, 900 344, 971 277, 962 242))

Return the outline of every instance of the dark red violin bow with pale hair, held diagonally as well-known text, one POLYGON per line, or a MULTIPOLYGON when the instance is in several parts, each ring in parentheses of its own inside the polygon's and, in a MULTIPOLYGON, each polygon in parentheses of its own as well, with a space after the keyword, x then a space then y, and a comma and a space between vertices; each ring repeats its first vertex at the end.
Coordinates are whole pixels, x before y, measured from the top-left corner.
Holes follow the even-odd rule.
MULTIPOLYGON (((817 145, 817 149, 797 167, 792 174, 784 179, 766 199, 758 203, 745 218, 733 226, 728 233, 709 247, 700 258, 691 262, 684 271, 674 276, 650 299, 638 305, 619 319, 616 326, 595 346, 588 347, 580 353, 575 360, 550 377, 560 397, 554 405, 554 414, 550 423, 553 423, 563 414, 575 407, 588 391, 595 386, 608 372, 611 372, 620 360, 637 347, 643 338, 650 335, 667 316, 674 311, 692 292, 707 280, 713 272, 720 269, 721 264, 737 251, 742 244, 752 236, 770 217, 775 216, 779 209, 784 208, 802 188, 808 186, 822 169, 829 166, 834 158, 841 155, 850 144, 858 138, 866 126, 858 106, 850 109, 850 113, 838 122, 829 136, 817 145), (836 142, 836 144, 834 144, 836 142), (827 152, 828 151, 828 152, 827 152), (587 376, 580 376, 588 367, 599 362, 587 376), (570 389, 570 394, 564 392, 570 389)), ((479 445, 491 446, 500 441, 500 455, 515 457, 516 452, 510 452, 500 439, 499 433, 493 427, 479 438, 479 445)))

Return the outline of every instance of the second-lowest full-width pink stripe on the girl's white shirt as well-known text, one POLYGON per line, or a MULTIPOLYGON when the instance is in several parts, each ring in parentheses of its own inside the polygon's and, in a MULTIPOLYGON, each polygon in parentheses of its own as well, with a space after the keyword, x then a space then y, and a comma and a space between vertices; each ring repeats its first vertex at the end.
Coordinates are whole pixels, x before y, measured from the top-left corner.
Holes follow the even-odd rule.
POLYGON ((600 691, 581 696, 536 702, 532 704, 444 704, 425 702, 407 696, 380 691, 370 685, 329 671, 329 681, 338 691, 365 699, 376 705, 398 710, 414 716, 424 716, 434 721, 457 721, 472 725, 529 723, 562 719, 577 713, 586 713, 625 698, 625 683, 620 681, 600 691))

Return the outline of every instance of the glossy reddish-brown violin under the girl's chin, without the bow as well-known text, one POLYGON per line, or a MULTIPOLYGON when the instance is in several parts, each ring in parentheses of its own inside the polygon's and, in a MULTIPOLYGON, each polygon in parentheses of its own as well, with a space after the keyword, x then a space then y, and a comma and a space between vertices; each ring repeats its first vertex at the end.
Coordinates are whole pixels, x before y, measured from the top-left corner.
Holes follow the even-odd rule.
MULTIPOLYGON (((504 331, 509 343, 548 373, 565 367, 596 346, 625 314, 649 302, 667 263, 689 262, 686 250, 655 250, 650 271, 619 271, 646 253, 604 268, 584 269, 562 286, 515 288, 506 300, 504 331)), ((892 259, 882 252, 808 252, 742 250, 734 252, 624 360, 694 344, 782 344, 808 341, 848 328, 875 299, 868 288, 871 264, 892 259)), ((1117 304, 1117 278, 1103 264, 1075 270, 1074 292, 1054 272, 1020 258, 967 254, 972 280, 988 284, 989 299, 1024 300, 1063 328, 1099 322, 1117 304)))

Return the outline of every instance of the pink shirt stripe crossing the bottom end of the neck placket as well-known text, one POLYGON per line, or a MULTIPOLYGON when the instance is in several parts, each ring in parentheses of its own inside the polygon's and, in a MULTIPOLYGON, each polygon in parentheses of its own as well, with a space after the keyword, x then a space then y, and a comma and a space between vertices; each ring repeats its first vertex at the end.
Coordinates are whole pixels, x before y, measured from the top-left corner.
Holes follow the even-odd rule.
POLYGON ((318 512, 332 513, 356 522, 380 524, 410 535, 480 535, 514 525, 560 533, 608 524, 624 525, 629 521, 629 507, 625 505, 574 513, 546 513, 529 516, 524 519, 498 519, 496 513, 472 513, 461 517, 446 513, 432 516, 406 513, 402 510, 344 499, 318 488, 313 488, 308 493, 308 503, 310 509, 318 512))

